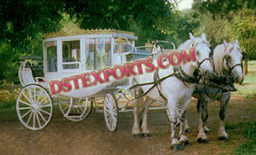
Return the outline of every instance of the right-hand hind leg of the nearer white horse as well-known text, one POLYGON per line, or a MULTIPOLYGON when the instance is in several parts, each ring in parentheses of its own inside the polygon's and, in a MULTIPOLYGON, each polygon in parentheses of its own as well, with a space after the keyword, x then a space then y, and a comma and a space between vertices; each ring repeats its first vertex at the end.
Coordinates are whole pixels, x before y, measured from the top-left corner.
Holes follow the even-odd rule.
POLYGON ((142 124, 141 124, 141 133, 143 136, 150 136, 149 130, 148 130, 148 110, 149 105, 153 103, 153 100, 149 97, 146 98, 143 112, 142 112, 142 124))

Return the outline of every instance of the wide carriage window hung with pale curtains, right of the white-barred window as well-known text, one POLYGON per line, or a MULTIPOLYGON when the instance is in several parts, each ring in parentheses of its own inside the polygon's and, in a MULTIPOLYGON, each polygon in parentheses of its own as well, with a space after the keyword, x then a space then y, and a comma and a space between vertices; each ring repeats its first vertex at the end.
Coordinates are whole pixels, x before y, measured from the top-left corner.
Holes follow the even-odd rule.
POLYGON ((111 39, 85 40, 86 69, 102 69, 111 66, 111 39))

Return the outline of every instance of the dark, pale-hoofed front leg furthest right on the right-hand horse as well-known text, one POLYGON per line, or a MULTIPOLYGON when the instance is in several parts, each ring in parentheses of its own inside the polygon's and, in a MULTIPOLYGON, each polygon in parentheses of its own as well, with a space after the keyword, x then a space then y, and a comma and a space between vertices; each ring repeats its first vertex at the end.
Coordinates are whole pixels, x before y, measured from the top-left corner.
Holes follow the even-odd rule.
POLYGON ((225 93, 223 94, 223 96, 220 99, 220 128, 219 128, 219 139, 221 140, 228 140, 229 136, 227 134, 227 132, 225 131, 225 124, 224 124, 224 120, 225 120, 225 112, 226 112, 226 106, 228 105, 228 101, 230 99, 230 94, 229 93, 225 93))

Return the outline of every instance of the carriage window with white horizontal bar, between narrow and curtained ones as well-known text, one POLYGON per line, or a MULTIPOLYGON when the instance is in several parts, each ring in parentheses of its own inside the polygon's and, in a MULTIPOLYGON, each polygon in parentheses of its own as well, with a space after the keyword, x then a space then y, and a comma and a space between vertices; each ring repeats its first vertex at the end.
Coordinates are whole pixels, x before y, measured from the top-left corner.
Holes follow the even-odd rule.
POLYGON ((80 41, 62 42, 63 69, 77 69, 80 65, 80 41))

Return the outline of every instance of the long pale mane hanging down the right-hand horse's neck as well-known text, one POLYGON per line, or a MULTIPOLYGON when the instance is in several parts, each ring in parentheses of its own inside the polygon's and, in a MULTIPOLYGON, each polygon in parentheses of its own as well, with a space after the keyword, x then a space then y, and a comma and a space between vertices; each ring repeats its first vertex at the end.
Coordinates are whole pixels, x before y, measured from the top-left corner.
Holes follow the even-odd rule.
POLYGON ((233 48, 232 43, 227 43, 227 47, 225 48, 224 44, 218 45, 214 50, 213 50, 213 69, 215 73, 218 76, 224 76, 224 64, 226 61, 224 58, 228 55, 228 51, 233 48))

